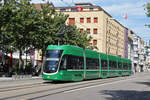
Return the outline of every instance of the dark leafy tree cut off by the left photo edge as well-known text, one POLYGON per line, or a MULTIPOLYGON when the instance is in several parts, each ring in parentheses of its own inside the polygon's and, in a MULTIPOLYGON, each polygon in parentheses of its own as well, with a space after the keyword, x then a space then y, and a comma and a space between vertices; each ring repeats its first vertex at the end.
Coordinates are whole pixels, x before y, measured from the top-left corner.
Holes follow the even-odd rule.
POLYGON ((4 1, 4 3, 2 3, 2 0, 0 1, 0 50, 6 54, 13 52, 11 46, 11 34, 6 31, 8 30, 8 23, 10 22, 10 19, 12 16, 15 16, 12 11, 14 8, 12 2, 14 2, 14 0, 12 0, 11 3, 8 1, 4 1))

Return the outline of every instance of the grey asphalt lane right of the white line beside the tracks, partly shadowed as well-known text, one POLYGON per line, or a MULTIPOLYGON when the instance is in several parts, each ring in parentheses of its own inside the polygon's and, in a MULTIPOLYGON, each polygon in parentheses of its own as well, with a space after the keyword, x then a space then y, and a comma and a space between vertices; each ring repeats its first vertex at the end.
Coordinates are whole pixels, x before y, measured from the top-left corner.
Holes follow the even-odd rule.
POLYGON ((150 73, 135 77, 65 91, 36 100, 150 100, 150 73))

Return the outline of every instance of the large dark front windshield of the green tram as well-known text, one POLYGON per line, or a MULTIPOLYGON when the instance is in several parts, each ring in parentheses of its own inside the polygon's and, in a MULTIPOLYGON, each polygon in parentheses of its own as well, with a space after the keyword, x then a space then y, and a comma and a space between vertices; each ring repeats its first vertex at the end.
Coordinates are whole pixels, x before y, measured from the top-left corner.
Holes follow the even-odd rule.
POLYGON ((58 70, 59 60, 62 50, 48 50, 46 51, 46 59, 44 63, 45 73, 55 73, 58 70))

